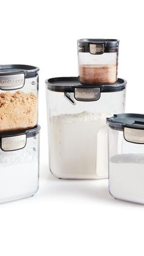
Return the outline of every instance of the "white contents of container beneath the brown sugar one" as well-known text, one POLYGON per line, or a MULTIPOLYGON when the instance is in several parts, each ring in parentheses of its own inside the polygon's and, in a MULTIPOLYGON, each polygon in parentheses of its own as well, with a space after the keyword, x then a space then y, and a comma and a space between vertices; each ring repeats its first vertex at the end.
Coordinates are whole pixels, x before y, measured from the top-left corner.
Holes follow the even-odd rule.
POLYGON ((38 189, 38 158, 35 148, 13 152, 0 150, 0 202, 32 196, 38 189))

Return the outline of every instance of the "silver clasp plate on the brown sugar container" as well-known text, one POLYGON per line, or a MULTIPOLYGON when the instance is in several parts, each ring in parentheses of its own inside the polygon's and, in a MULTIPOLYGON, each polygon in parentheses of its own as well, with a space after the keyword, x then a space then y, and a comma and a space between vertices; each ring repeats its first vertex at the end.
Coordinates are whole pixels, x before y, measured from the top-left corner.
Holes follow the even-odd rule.
POLYGON ((18 75, 0 76, 1 90, 15 90, 24 86, 24 73, 18 75))

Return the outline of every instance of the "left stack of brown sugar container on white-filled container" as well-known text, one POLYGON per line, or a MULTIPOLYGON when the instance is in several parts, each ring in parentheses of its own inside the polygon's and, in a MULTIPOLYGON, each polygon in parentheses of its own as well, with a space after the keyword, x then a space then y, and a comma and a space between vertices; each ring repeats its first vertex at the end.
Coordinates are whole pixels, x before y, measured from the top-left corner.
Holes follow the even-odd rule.
POLYGON ((0 65, 0 202, 38 189, 38 70, 0 65))

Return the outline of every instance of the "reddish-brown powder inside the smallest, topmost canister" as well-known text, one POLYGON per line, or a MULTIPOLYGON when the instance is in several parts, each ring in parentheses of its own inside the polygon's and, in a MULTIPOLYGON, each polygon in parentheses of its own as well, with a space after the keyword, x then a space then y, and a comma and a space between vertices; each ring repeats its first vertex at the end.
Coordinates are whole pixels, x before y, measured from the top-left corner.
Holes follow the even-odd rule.
POLYGON ((117 65, 80 65, 79 81, 82 84, 114 84, 117 65))

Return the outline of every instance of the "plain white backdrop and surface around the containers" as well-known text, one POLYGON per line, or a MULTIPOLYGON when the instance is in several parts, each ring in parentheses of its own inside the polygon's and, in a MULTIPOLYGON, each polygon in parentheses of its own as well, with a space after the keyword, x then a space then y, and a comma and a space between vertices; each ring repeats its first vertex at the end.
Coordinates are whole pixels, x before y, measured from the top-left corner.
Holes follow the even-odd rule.
POLYGON ((1 256, 143 255, 144 206, 112 199, 107 180, 49 174, 45 79, 77 75, 78 38, 120 39, 126 111, 144 112, 143 1, 2 1, 0 63, 40 67, 40 189, 0 205, 1 256))

